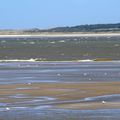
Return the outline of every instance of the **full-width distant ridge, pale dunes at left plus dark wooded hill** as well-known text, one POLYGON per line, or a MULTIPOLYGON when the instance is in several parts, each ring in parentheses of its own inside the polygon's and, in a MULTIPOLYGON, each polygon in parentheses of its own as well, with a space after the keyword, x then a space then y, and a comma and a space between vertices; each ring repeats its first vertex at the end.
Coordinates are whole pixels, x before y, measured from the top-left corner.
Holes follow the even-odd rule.
POLYGON ((12 29, 1 29, 0 34, 39 34, 44 32, 120 32, 120 23, 116 24, 86 24, 78 26, 66 26, 66 27, 55 27, 50 29, 23 29, 23 30, 12 30, 12 29))

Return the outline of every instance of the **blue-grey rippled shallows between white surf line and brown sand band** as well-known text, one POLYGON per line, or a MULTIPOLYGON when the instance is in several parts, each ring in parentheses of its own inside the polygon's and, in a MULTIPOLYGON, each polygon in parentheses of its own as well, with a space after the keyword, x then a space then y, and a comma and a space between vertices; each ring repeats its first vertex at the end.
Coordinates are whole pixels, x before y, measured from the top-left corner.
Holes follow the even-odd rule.
POLYGON ((120 62, 8 62, 0 84, 120 81, 120 62))

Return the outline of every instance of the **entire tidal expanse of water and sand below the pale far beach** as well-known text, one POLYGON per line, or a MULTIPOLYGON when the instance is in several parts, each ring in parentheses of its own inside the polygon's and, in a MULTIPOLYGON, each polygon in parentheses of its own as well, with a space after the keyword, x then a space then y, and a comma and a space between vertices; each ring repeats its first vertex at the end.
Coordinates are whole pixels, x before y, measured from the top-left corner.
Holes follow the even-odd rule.
POLYGON ((0 38, 0 120, 119 120, 120 37, 0 38))

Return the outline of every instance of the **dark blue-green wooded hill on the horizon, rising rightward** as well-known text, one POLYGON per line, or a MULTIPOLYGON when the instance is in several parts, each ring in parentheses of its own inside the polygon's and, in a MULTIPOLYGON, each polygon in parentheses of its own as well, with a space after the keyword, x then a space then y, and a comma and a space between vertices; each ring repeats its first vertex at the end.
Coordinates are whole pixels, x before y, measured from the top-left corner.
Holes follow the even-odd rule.
POLYGON ((26 30, 25 32, 109 32, 120 31, 120 23, 117 24, 92 24, 78 25, 72 27, 56 27, 51 29, 41 30, 38 28, 26 30))

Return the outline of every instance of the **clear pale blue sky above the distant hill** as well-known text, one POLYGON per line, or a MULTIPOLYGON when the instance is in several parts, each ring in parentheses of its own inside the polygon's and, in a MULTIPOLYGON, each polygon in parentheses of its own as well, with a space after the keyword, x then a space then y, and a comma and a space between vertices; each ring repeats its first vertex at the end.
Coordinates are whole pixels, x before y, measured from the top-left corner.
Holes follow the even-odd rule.
POLYGON ((120 23, 120 0, 0 0, 0 29, 120 23))

